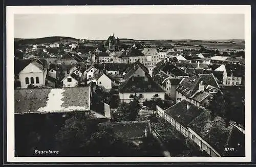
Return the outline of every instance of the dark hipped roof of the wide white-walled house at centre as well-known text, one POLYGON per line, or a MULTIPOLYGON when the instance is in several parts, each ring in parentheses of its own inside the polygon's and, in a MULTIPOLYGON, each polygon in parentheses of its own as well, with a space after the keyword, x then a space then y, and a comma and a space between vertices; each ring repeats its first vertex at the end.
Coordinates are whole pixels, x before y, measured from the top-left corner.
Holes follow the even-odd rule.
POLYGON ((134 77, 127 79, 119 86, 119 92, 164 92, 160 86, 150 77, 134 77))

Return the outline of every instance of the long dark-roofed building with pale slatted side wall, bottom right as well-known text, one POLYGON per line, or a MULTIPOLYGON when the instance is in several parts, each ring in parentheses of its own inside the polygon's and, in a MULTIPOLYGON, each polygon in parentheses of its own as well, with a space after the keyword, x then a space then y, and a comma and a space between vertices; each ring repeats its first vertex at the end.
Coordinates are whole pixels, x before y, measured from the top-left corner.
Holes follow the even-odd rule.
POLYGON ((245 156, 245 135, 223 118, 212 118, 205 108, 182 100, 163 109, 157 105, 157 117, 169 122, 178 132, 210 156, 245 156), (233 148, 232 152, 225 148, 233 148))

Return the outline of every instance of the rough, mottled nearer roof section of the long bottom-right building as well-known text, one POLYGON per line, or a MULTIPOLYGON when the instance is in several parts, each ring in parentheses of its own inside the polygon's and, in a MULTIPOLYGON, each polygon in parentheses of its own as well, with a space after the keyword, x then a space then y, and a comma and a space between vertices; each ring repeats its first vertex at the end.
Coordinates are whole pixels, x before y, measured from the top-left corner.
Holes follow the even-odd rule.
POLYGON ((233 128, 232 126, 226 128, 224 119, 219 116, 211 121, 211 114, 207 111, 202 112, 196 119, 191 121, 188 127, 221 155, 224 154, 226 143, 233 128))

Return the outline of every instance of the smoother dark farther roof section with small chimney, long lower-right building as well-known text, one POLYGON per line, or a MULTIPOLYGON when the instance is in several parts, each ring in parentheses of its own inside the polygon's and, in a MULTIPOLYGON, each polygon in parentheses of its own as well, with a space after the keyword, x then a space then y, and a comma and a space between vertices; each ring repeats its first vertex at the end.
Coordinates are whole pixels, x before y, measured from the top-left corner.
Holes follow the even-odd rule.
POLYGON ((171 116, 185 128, 193 119, 199 116, 201 112, 203 112, 202 108, 199 108, 186 100, 182 100, 164 111, 164 113, 171 116), (187 104, 189 105, 188 109, 187 104))

